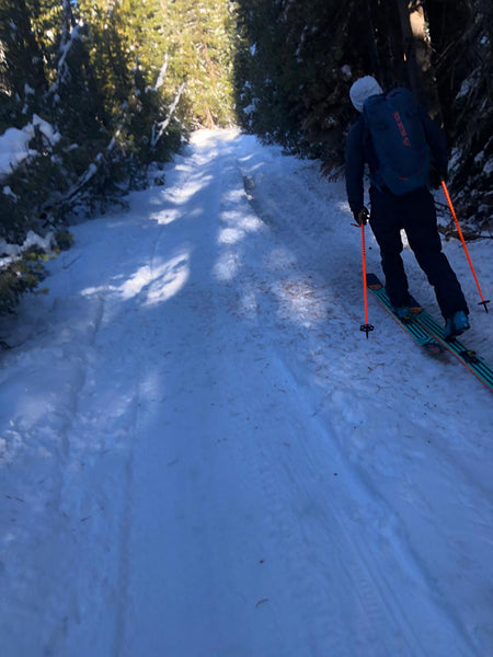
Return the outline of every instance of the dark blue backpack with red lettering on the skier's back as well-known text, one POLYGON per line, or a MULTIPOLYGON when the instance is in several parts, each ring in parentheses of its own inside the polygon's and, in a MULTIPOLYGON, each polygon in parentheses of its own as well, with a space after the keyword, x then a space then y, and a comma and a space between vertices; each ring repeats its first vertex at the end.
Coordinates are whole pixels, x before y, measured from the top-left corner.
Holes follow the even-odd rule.
POLYGON ((424 187, 429 151, 420 112, 406 89, 370 96, 363 116, 378 159, 377 185, 401 196, 424 187))

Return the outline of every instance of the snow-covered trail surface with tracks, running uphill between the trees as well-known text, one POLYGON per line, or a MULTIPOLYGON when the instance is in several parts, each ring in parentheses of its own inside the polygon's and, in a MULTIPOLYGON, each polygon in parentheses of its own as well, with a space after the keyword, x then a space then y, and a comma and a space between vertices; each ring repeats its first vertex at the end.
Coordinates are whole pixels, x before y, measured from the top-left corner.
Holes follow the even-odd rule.
POLYGON ((73 229, 2 322, 2 657, 493 655, 492 395, 374 299, 359 332, 351 221, 231 130, 73 229))

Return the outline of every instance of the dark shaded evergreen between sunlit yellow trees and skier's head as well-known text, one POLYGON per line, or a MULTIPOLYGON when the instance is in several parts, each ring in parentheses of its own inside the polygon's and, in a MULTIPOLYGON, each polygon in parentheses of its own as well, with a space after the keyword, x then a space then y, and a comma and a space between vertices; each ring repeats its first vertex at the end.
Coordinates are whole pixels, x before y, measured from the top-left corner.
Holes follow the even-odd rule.
POLYGON ((237 93, 244 127, 293 151, 341 162, 348 82, 365 59, 359 9, 334 0, 239 1, 244 45, 237 93))

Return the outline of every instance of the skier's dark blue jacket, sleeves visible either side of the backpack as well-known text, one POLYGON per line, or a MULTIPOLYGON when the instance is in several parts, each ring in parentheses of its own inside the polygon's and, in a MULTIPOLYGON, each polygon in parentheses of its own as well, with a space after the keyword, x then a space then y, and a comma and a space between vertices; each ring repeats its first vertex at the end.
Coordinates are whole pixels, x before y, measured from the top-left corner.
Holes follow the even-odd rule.
MULTIPOLYGON (((420 115, 434 165, 445 178, 447 175, 447 142, 445 134, 424 110, 420 110, 420 115)), ((379 185, 376 183, 378 160, 371 143, 369 130, 365 125, 362 114, 358 120, 351 127, 346 140, 346 192, 353 212, 358 212, 365 205, 363 187, 365 164, 368 164, 369 168, 371 186, 379 188, 379 185)), ((390 194, 390 191, 388 193, 390 194)))

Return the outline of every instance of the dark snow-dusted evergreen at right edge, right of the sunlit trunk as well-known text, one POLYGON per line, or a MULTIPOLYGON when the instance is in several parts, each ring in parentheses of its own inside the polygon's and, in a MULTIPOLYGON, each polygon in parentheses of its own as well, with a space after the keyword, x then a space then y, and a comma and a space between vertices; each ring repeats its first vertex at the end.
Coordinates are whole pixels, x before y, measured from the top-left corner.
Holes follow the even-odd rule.
POLYGON ((445 127, 452 150, 450 187, 462 219, 493 228, 493 5, 466 0, 425 5, 445 127))

